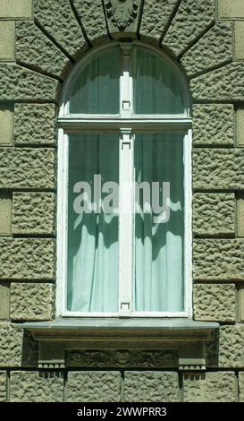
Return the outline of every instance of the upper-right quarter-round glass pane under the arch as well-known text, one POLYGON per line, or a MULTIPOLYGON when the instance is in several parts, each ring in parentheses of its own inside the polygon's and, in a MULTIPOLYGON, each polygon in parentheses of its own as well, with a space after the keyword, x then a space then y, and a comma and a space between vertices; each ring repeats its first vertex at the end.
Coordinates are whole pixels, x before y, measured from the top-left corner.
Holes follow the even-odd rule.
POLYGON ((134 112, 185 114, 181 73, 164 56, 136 47, 134 60, 134 112))

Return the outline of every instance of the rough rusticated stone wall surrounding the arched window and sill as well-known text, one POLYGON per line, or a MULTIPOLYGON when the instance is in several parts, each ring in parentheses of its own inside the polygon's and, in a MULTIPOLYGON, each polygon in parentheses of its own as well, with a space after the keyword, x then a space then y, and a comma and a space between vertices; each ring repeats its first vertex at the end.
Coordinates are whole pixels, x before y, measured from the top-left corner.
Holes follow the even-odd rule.
POLYGON ((243 4, 0 0, 0 401, 244 401, 243 4), (14 327, 55 317, 63 81, 86 51, 130 38, 172 55, 192 93, 194 318, 221 323, 195 379, 99 362, 38 371, 37 343, 14 327))

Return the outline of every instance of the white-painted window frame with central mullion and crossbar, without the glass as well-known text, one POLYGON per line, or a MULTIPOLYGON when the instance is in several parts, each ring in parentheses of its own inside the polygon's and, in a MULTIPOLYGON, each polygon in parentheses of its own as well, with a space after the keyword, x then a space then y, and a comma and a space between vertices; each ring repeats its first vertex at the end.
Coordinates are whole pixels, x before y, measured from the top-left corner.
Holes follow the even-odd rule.
MULTIPOLYGON (((162 50, 156 47, 147 47, 139 41, 133 43, 120 43, 122 48, 122 75, 120 80, 120 115, 70 115, 69 92, 76 75, 82 72, 88 61, 97 54, 101 54, 107 46, 99 47, 89 53, 85 59, 74 66, 72 74, 63 87, 60 114, 58 118, 58 190, 57 190, 57 316, 62 317, 192 317, 192 234, 191 234, 191 118, 189 90, 185 86, 185 99, 188 104, 186 115, 133 115, 133 92, 131 77, 130 49, 137 44, 154 50, 162 55, 162 50), (183 160, 184 160, 184 308, 183 312, 132 312, 132 282, 133 282, 133 203, 134 197, 123 196, 120 192, 120 201, 127 200, 131 212, 121 214, 119 219, 119 312, 118 313, 85 313, 67 311, 67 205, 68 205, 68 133, 103 133, 115 132, 120 138, 120 181, 133 181, 133 143, 134 133, 183 133, 183 160), (123 197, 122 197, 123 196, 123 197), (127 235, 125 233, 128 233, 127 235), (129 234, 130 233, 130 234, 129 234)), ((116 42, 109 46, 118 45, 116 42)), ((170 58, 165 57, 171 65, 177 67, 170 58)), ((179 77, 184 79, 178 68, 179 77)), ((128 208, 127 208, 128 209, 128 208)))

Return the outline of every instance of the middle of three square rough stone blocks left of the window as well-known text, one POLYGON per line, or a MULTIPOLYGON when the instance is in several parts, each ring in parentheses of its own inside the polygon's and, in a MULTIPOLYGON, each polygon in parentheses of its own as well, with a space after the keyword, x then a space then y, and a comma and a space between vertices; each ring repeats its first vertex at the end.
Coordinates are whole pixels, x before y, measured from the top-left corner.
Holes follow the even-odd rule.
POLYGON ((13 193, 13 234, 55 234, 55 194, 13 193))

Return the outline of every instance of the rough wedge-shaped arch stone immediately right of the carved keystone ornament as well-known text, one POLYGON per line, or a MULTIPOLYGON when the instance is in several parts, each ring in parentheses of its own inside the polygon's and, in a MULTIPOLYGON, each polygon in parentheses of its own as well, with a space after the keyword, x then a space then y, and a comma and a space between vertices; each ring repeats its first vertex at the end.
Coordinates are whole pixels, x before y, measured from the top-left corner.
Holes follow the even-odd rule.
POLYGON ((178 0, 145 0, 140 35, 160 39, 178 0))

